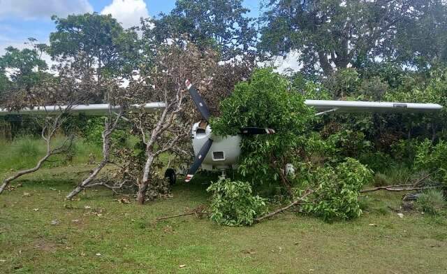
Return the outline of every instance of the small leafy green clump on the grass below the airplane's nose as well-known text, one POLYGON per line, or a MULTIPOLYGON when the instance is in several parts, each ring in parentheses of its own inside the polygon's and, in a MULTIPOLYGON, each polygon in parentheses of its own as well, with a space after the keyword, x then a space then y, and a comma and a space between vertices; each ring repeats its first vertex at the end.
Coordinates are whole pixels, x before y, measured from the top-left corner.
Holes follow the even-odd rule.
POLYGON ((265 212, 265 199, 252 194, 249 182, 219 180, 207 192, 212 192, 210 219, 217 224, 249 226, 265 212))

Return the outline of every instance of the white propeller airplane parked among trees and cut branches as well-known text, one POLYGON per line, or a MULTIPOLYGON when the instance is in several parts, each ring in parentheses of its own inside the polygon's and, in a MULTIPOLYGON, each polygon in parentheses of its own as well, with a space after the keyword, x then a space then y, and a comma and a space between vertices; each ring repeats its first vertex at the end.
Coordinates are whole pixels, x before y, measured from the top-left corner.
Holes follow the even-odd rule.
MULTIPOLYGON (((253 134, 274 134, 274 129, 263 129, 258 127, 244 127, 240 129, 240 134, 235 136, 218 136, 212 133, 210 125, 207 123, 210 118, 210 110, 205 101, 198 94, 197 89, 186 80, 186 87, 191 97, 203 117, 203 121, 196 122, 192 127, 192 145, 196 155, 193 164, 186 175, 186 182, 189 182, 198 168, 204 170, 224 171, 228 168, 237 168, 237 161, 240 157, 240 141, 244 135, 253 134)), ((397 102, 369 102, 369 101, 328 101, 328 100, 306 100, 307 106, 313 107, 318 113, 426 113, 439 111, 443 107, 436 103, 397 103, 397 102)), ((162 109, 166 105, 161 102, 146 103, 143 108, 148 111, 162 109)), ((135 107, 141 107, 135 105, 135 107)), ((26 113, 52 113, 64 110, 66 106, 45 106, 36 108, 24 108, 19 112, 10 112, 0 108, 0 116, 8 114, 26 113)), ((119 106, 112 106, 112 110, 119 110, 119 106)), ((85 113, 87 115, 105 115, 109 111, 108 103, 78 105, 73 106, 71 112, 85 113)), ((174 176, 170 171, 169 176, 174 176)), ((172 178, 172 177, 171 177, 172 178)))

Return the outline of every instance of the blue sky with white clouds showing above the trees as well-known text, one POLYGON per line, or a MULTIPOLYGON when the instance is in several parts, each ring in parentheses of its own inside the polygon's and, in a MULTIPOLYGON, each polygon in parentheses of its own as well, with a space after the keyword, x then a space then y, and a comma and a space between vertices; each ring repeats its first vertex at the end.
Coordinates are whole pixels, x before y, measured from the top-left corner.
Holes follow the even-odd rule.
MULTIPOLYGON (((174 6, 175 0, 0 0, 0 56, 9 45, 29 47, 24 45, 29 37, 36 38, 38 43, 48 43, 50 33, 55 30, 52 15, 111 14, 127 28, 138 24, 140 17, 169 13, 174 6)), ((244 6, 251 10, 249 16, 258 17, 259 0, 244 0, 244 6)), ((293 68, 298 66, 294 59, 286 60, 286 64, 281 59, 279 62, 293 68)))

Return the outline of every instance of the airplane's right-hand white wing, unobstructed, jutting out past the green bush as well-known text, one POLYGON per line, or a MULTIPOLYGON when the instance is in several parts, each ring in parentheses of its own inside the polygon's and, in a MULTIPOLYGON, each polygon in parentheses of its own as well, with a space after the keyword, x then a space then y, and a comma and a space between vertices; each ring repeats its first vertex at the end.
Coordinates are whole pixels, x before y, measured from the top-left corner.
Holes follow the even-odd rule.
POLYGON ((442 109, 437 103, 397 103, 368 101, 328 101, 306 100, 307 106, 314 107, 318 113, 423 113, 442 109))

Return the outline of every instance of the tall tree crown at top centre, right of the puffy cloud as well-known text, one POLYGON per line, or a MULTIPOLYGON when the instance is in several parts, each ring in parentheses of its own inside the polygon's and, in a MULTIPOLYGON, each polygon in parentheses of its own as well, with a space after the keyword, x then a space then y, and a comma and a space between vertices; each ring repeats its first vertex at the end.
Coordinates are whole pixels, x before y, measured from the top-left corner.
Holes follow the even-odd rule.
POLYGON ((223 60, 254 50, 256 29, 249 9, 242 0, 178 0, 168 14, 152 20, 156 41, 189 34, 189 40, 200 48, 212 46, 223 60))

